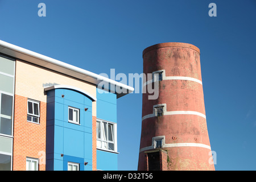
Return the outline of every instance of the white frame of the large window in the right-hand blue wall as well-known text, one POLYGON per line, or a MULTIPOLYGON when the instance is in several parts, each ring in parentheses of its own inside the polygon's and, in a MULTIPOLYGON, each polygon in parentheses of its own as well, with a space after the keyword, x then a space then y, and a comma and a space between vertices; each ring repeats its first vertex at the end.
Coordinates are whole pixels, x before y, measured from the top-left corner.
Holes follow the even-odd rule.
POLYGON ((117 152, 117 123, 110 122, 110 121, 105 121, 105 120, 98 119, 98 118, 97 118, 97 123, 99 123, 99 124, 96 124, 97 148, 100 149, 100 150, 117 152), (104 131, 103 131, 104 123, 107 124, 107 130, 106 130, 107 136, 106 136, 105 139, 104 139, 104 131), (109 139, 109 131, 108 131, 109 125, 112 126, 113 141, 108 140, 109 139), (98 126, 100 126, 100 138, 98 138, 98 132, 99 132, 98 128, 97 128, 98 126), (111 150, 109 148, 109 143, 113 144, 113 147, 114 147, 113 150, 111 150), (104 147, 104 144, 106 144, 105 147, 104 147))

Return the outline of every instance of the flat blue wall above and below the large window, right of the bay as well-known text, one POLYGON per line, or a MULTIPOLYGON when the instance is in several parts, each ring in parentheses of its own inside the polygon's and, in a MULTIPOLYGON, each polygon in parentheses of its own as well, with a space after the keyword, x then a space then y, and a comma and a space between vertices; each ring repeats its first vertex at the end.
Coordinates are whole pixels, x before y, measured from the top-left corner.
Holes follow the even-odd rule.
MULTIPOLYGON (((117 123, 117 95, 97 90, 97 118, 117 123)), ((113 152, 97 150, 97 169, 117 170, 117 155, 113 152)))

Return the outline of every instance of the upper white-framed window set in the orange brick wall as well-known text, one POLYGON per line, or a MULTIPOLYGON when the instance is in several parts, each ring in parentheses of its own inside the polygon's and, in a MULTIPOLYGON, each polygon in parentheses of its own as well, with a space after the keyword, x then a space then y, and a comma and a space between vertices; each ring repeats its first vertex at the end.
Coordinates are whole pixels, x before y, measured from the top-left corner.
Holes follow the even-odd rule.
POLYGON ((40 110, 39 101, 27 100, 27 121, 39 123, 40 110))

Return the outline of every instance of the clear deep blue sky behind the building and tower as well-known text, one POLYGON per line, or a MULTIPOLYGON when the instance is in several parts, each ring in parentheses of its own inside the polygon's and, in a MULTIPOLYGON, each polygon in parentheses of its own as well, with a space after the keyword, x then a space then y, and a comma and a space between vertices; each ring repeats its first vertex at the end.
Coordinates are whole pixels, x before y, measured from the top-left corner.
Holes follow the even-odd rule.
MULTIPOLYGON (((153 44, 199 47, 216 170, 256 169, 255 0, 0 0, 0 23, 1 40, 98 74, 142 73, 142 51, 153 44)), ((142 94, 117 105, 118 169, 137 170, 142 94)))

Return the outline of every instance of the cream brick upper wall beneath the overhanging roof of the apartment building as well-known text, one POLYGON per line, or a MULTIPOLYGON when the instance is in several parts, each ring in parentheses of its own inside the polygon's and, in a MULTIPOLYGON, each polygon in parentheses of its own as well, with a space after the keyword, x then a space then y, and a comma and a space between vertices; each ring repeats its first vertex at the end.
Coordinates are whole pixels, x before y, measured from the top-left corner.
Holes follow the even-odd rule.
MULTIPOLYGON (((16 60, 15 94, 46 102, 47 96, 43 85, 49 83, 75 86, 96 97, 96 85, 16 60)), ((92 103, 92 115, 96 116, 96 102, 92 103)))

